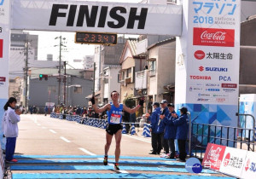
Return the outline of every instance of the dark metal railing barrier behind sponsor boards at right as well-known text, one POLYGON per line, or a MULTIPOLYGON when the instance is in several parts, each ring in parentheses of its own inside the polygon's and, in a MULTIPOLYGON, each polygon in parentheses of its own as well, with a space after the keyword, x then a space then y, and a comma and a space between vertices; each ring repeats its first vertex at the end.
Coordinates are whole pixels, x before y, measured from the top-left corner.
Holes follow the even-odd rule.
POLYGON ((251 140, 251 133, 254 129, 192 123, 191 130, 191 138, 189 140, 190 157, 194 151, 195 157, 202 159, 209 142, 227 147, 237 147, 237 144, 239 144, 240 149, 243 147, 243 144, 246 144, 247 150, 254 152, 255 143, 254 140, 251 140), (248 137, 243 136, 244 131, 248 132, 248 137), (251 148, 252 146, 253 148, 251 148), (197 155, 198 151, 200 151, 200 156, 197 155))

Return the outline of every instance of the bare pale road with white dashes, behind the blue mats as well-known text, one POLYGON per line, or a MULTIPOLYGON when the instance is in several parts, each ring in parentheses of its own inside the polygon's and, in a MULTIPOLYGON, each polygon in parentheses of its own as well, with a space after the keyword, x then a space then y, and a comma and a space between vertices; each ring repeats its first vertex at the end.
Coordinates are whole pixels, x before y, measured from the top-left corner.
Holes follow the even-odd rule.
MULTIPOLYGON (((44 117, 44 115, 21 115, 20 134, 15 153, 63 155, 63 154, 104 154, 105 130, 87 125, 44 117)), ((150 156, 150 138, 143 136, 122 136, 121 154, 150 156)), ((113 155, 113 138, 109 155, 113 155)))

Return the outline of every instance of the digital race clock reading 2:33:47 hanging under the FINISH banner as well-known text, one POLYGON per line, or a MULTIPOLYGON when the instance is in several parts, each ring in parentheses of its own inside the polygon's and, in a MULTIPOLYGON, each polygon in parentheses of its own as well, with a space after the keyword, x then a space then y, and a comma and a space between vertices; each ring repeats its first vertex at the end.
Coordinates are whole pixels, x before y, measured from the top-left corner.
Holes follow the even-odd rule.
POLYGON ((117 34, 76 32, 75 43, 114 45, 117 43, 117 34))

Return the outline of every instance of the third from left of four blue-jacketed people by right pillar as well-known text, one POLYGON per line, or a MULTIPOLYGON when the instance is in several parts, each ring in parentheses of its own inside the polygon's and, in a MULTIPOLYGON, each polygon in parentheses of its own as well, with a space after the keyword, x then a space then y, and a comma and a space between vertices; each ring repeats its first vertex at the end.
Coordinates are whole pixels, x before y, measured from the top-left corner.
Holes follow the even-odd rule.
POLYGON ((173 125, 173 121, 176 120, 178 117, 177 117, 177 113, 174 110, 174 105, 172 103, 168 104, 167 107, 170 113, 168 115, 168 118, 164 118, 164 124, 166 126, 164 138, 168 141, 168 145, 171 149, 171 153, 170 153, 170 156, 167 156, 166 158, 174 159, 174 156, 175 156, 174 140, 176 139, 176 127, 175 125, 173 125))

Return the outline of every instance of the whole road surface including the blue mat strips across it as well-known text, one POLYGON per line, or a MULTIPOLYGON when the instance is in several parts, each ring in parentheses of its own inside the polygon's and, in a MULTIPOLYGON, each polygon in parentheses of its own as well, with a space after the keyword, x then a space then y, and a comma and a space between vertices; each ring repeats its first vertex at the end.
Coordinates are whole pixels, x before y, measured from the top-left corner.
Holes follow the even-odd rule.
MULTIPOLYGON (((112 162, 109 162, 108 166, 102 165, 102 156, 99 155, 104 154, 105 130, 36 114, 21 115, 19 129, 15 150, 19 162, 8 165, 11 171, 9 178, 11 176, 26 179, 224 176, 209 170, 201 174, 190 174, 184 169, 184 163, 148 154, 151 149, 151 138, 143 137, 142 129, 137 136, 122 136, 123 159, 120 159, 120 171, 113 170, 111 164, 113 159, 109 159, 112 162), (20 158, 17 155, 20 155, 20 158), (74 155, 79 158, 76 159, 74 155), (127 158, 124 159, 124 156, 127 158)), ((113 138, 108 155, 114 154, 114 148, 113 138)))

